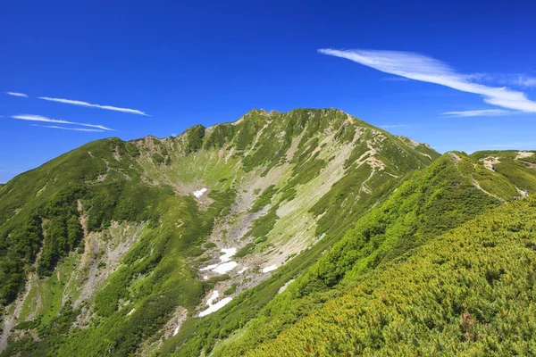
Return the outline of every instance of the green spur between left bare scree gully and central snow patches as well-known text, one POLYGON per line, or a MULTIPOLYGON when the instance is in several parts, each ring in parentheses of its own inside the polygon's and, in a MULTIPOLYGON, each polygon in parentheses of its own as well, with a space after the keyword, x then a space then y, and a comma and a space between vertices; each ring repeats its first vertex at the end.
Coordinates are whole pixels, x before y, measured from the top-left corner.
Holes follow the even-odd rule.
MULTIPOLYGON (((159 224, 146 230, 123 258, 121 268, 96 294, 94 311, 98 323, 94 328, 71 328, 58 332, 54 338, 45 334, 38 344, 20 340, 10 351, 24 355, 43 351, 72 355, 85 346, 86 351, 97 354, 114 351, 116 355, 126 355, 155 334, 177 306, 197 306, 214 283, 225 278, 199 282, 186 263, 189 257, 200 253, 200 245, 212 230, 214 219, 229 212, 234 192, 213 192, 211 197, 214 203, 206 211, 199 211, 191 197, 168 195, 155 205, 156 212, 165 212, 159 224), (178 220, 182 223, 179 229, 175 224, 178 220), (130 315, 121 303, 125 301, 136 302, 130 304, 130 315), (65 344, 67 338, 69 343, 65 344)), ((46 331, 54 323, 35 322, 27 328, 46 331)))

